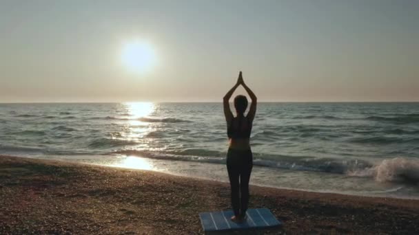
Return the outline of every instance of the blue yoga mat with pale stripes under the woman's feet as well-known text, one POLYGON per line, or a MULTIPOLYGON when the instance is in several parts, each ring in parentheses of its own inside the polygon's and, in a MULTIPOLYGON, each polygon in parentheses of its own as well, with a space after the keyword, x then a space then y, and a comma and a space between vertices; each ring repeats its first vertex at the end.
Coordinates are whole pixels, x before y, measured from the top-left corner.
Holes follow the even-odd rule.
POLYGON ((199 218, 201 219, 204 232, 263 229, 282 225, 267 208, 249 209, 246 214, 247 219, 243 223, 234 223, 230 219, 234 215, 232 210, 203 212, 199 213, 199 218))

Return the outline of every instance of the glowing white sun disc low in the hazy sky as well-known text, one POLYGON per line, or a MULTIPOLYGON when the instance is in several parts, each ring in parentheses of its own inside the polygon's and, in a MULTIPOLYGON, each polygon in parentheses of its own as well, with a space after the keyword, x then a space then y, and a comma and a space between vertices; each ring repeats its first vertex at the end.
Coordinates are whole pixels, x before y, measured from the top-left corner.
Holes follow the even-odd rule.
POLYGON ((156 63, 156 53, 149 43, 132 41, 123 46, 121 60, 127 69, 145 72, 152 69, 156 63))

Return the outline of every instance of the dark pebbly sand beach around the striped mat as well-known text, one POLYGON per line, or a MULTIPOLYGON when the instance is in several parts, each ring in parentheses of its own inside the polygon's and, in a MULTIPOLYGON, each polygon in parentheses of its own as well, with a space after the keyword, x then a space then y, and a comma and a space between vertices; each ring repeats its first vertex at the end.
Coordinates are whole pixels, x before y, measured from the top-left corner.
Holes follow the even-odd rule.
MULTIPOLYGON (((250 187, 265 234, 418 234, 417 200, 250 187)), ((0 157, 0 234, 203 234, 199 212, 229 209, 218 181, 65 161, 0 157)))

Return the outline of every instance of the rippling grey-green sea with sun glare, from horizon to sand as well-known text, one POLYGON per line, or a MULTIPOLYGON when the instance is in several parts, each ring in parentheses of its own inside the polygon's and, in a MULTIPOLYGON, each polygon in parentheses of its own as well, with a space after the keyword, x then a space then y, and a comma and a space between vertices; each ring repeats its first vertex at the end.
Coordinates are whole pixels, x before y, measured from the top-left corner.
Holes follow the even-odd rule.
MULTIPOLYGON (((418 102, 260 102, 251 184, 419 199, 418 102)), ((223 104, 0 104, 0 155, 228 181, 223 104)))

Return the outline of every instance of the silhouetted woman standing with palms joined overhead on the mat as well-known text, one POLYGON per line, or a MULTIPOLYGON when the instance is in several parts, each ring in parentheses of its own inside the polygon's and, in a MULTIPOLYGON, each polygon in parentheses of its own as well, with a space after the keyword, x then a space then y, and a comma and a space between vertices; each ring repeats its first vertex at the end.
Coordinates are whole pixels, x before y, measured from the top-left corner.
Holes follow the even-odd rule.
POLYGON ((227 135, 229 138, 227 172, 232 189, 232 207, 234 211, 232 221, 241 223, 245 220, 247 205, 249 203, 249 179, 253 167, 253 155, 250 149, 249 139, 256 113, 256 96, 245 85, 241 72, 238 74, 236 85, 225 94, 223 104, 225 120, 227 121, 227 135), (247 98, 241 95, 236 96, 234 98, 234 107, 236 108, 237 115, 234 117, 229 107, 229 99, 240 85, 249 94, 252 99, 252 104, 250 104, 249 112, 245 116, 247 98), (239 197, 239 192, 241 197, 239 197))

